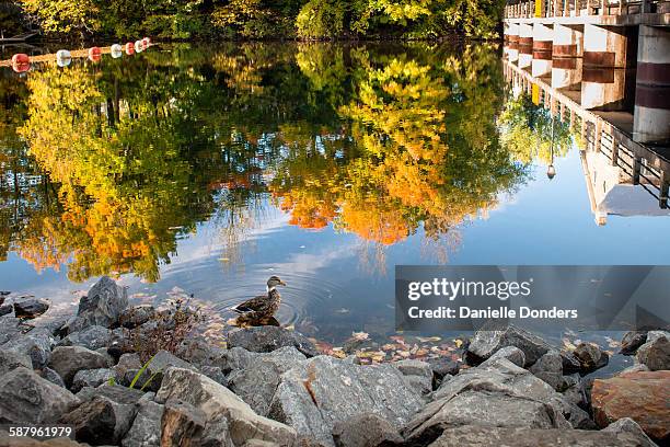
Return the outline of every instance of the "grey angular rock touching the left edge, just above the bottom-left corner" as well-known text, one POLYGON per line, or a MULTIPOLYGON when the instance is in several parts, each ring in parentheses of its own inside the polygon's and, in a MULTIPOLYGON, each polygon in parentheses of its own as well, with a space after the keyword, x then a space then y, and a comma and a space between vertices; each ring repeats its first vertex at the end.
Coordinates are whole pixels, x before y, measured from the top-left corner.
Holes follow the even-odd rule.
POLYGON ((79 404, 70 391, 19 367, 0 377, 0 423, 48 424, 79 404))

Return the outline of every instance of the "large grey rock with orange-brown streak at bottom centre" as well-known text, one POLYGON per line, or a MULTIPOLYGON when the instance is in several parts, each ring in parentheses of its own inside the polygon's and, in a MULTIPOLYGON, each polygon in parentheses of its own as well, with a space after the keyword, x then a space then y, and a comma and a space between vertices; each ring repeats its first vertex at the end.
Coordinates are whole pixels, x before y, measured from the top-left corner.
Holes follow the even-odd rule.
POLYGON ((317 356, 281 375, 268 415, 332 446, 334 425, 361 411, 400 427, 421 406, 420 397, 391 365, 360 366, 317 356))

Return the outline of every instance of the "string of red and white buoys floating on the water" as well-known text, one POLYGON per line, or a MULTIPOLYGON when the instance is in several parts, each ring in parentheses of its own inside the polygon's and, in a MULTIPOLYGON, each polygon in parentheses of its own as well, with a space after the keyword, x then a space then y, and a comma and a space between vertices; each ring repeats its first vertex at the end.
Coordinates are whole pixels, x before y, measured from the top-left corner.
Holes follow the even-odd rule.
POLYGON ((31 57, 26 54, 19 53, 12 56, 9 60, 0 61, 0 67, 12 67, 18 73, 24 73, 31 70, 31 67, 35 62, 49 62, 56 60, 58 67, 68 67, 72 64, 73 58, 88 58, 92 62, 99 62, 102 60, 104 54, 109 54, 112 58, 118 59, 123 57, 124 53, 127 56, 132 56, 136 53, 141 53, 151 46, 151 38, 145 37, 140 41, 128 42, 124 46, 114 44, 109 47, 96 47, 93 46, 88 49, 77 49, 70 51, 68 49, 59 49, 56 55, 42 55, 31 57))

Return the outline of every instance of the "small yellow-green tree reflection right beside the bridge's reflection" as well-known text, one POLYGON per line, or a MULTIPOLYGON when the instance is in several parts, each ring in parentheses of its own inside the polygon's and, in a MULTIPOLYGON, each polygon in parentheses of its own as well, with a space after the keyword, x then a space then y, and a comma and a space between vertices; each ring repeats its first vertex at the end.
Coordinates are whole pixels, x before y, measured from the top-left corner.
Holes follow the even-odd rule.
POLYGON ((499 123, 503 144, 523 163, 551 163, 552 147, 558 158, 565 157, 571 146, 569 125, 552 118, 551 112, 533 104, 528 94, 510 98, 499 123))

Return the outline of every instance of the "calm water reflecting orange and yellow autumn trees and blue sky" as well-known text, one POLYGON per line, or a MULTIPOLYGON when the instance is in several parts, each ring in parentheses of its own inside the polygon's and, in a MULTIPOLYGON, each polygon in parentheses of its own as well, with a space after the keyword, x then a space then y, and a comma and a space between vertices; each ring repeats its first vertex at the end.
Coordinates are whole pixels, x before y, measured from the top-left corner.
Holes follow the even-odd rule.
POLYGON ((4 68, 0 289, 63 310, 115 275, 138 302, 193 294, 216 336, 278 275, 278 320, 340 344, 394 333, 396 264, 666 264, 667 214, 597 225, 575 131, 500 57, 161 45, 4 68))

